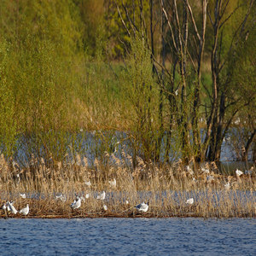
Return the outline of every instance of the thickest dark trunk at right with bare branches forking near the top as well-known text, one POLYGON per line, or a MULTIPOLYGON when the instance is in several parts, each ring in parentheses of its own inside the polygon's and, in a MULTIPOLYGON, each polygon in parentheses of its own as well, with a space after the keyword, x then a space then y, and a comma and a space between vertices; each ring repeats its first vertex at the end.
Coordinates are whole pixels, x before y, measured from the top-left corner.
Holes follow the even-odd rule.
MULTIPOLYGON (((236 12, 234 9, 231 14, 225 19, 222 20, 225 14, 225 10, 230 1, 223 0, 215 0, 215 8, 214 8, 214 20, 212 20, 211 15, 209 14, 209 19, 212 23, 213 28, 213 46, 212 46, 212 56, 211 56, 211 66, 212 66, 212 108, 211 113, 207 119, 207 134, 205 138, 205 142, 203 145, 203 152, 207 158, 207 160, 220 160, 221 153, 221 145, 223 142, 224 134, 228 130, 230 126, 230 122, 224 127, 224 117, 227 111, 227 107, 225 106, 226 101, 226 92, 227 88, 230 84, 230 75, 227 75, 225 82, 220 82, 220 73, 226 63, 225 60, 221 60, 222 54, 222 38, 223 31, 220 32, 220 28, 224 26, 224 23, 230 19, 231 15, 236 12)), ((239 31, 244 29, 245 22, 247 21, 247 17, 252 8, 253 2, 251 1, 250 5, 247 8, 247 14, 242 20, 241 25, 238 26, 236 32, 232 36, 232 40, 230 43, 229 54, 232 52, 233 42, 236 38, 236 35, 239 31)), ((238 38, 238 41, 241 41, 242 38, 238 38)), ((237 41, 237 42, 238 42, 237 41)), ((236 43, 237 44, 237 43, 236 43)), ((238 112, 239 109, 236 109, 233 113, 233 117, 235 113, 238 112)), ((231 121, 231 119, 230 119, 231 121)))

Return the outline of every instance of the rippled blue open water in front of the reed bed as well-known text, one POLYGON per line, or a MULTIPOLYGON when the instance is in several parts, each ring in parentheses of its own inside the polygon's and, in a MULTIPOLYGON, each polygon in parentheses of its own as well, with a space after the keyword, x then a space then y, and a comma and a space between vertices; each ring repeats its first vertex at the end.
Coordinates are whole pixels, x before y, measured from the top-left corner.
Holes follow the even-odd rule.
POLYGON ((250 218, 0 219, 1 255, 256 255, 250 218))

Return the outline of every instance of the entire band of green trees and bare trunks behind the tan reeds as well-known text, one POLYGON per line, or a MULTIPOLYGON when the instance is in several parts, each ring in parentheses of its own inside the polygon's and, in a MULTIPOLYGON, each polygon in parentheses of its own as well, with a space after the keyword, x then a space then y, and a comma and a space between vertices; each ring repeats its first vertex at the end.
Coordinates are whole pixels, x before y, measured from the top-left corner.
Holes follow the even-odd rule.
POLYGON ((129 131, 145 160, 219 160, 232 134, 256 160, 255 12, 254 0, 1 0, 2 150, 22 134, 63 155, 83 126, 129 131))

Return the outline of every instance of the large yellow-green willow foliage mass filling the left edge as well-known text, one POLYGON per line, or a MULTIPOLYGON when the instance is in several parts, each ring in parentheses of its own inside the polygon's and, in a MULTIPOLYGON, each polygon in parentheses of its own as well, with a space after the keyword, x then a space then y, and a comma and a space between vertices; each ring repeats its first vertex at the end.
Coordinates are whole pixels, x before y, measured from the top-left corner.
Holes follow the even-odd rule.
POLYGON ((14 145, 19 132, 40 134, 38 148, 43 143, 48 152, 55 152, 60 139, 56 131, 73 129, 68 113, 77 93, 74 67, 80 60, 75 6, 68 0, 24 0, 4 2, 0 11, 5 20, 0 34, 1 131, 8 140, 6 150, 10 154, 8 145, 14 145))

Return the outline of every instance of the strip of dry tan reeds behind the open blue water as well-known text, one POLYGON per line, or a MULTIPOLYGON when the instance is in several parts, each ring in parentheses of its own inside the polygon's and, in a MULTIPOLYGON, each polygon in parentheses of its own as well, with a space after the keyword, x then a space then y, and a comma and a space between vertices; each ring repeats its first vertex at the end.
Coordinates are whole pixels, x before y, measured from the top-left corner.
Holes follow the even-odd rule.
POLYGON ((182 161, 159 166, 122 152, 122 159, 104 154, 101 160, 76 155, 56 162, 32 157, 23 168, 0 158, 0 205, 15 201, 17 210, 29 204, 27 216, 0 210, 1 218, 255 218, 255 171, 222 175, 214 162, 185 166, 182 161), (135 167, 134 167, 135 166, 135 167), (111 181, 116 180, 116 185, 111 181), (90 183, 89 183, 90 182, 90 183), (105 200, 96 196, 106 191, 105 200), (25 194, 22 198, 20 194, 25 194), (79 209, 70 207, 79 195, 79 209), (192 204, 187 203, 193 198, 192 204), (148 212, 135 206, 149 202, 148 212), (104 209, 107 206, 108 209, 104 209))

